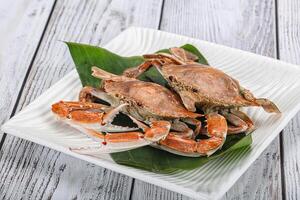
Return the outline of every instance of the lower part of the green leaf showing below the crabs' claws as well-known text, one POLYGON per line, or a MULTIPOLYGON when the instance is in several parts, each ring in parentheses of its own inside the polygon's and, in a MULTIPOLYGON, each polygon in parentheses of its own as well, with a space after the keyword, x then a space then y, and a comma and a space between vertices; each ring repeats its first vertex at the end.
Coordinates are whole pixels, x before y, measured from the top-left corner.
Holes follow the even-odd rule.
POLYGON ((225 153, 248 147, 252 143, 251 135, 231 135, 226 138, 222 149, 210 157, 185 157, 150 146, 111 154, 118 164, 128 165, 152 172, 169 173, 175 170, 192 170, 225 153))

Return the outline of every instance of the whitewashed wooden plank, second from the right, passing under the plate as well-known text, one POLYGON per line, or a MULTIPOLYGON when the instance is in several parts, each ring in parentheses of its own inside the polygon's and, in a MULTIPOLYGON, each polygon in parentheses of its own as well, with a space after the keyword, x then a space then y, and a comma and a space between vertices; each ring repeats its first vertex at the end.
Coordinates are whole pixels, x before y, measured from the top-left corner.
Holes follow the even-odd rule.
MULTIPOLYGON (((269 0, 166 0, 161 29, 275 56, 275 6, 269 0)), ((187 199, 135 180, 133 199, 187 199)), ((281 199, 279 139, 259 157, 224 199, 281 199)))

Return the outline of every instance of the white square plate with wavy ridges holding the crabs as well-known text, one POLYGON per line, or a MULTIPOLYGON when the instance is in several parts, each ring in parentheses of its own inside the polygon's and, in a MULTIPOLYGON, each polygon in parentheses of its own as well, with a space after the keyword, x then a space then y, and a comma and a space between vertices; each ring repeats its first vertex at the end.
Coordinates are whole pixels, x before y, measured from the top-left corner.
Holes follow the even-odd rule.
POLYGON ((56 121, 50 112, 50 106, 62 99, 76 99, 81 84, 75 70, 5 123, 2 130, 192 198, 220 198, 300 109, 300 67, 238 49, 144 28, 127 29, 105 48, 130 56, 186 43, 198 47, 212 66, 237 78, 256 96, 274 101, 282 111, 280 116, 265 113, 261 108, 245 110, 257 127, 253 133, 251 148, 228 153, 192 171, 170 174, 155 174, 118 165, 107 154, 91 157, 71 152, 69 147, 94 143, 84 134, 56 121))

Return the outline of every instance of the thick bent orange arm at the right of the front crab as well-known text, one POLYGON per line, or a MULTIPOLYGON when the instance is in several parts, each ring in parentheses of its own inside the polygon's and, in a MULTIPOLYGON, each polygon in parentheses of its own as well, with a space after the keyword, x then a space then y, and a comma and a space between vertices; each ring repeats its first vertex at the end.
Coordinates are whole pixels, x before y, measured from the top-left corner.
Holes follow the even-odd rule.
POLYGON ((180 155, 210 156, 220 149, 225 142, 227 134, 226 119, 216 113, 208 114, 207 129, 207 135, 210 137, 209 139, 195 141, 193 139, 178 137, 174 133, 170 133, 166 139, 160 141, 160 144, 163 149, 180 155))

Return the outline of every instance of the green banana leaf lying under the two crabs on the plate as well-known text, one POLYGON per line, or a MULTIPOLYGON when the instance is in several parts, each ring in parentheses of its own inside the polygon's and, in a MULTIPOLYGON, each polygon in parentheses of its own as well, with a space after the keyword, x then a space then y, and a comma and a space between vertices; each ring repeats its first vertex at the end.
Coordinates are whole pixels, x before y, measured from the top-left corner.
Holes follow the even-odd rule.
MULTIPOLYGON (((100 79, 91 76, 92 66, 97 66, 114 74, 122 74, 125 69, 135 67, 144 61, 142 56, 123 57, 101 47, 73 42, 66 42, 66 44, 69 48, 83 86, 98 87, 101 83, 100 79)), ((208 65, 205 57, 193 45, 186 44, 183 45, 182 48, 197 55, 199 57, 197 62, 208 65)), ((168 53, 169 51, 167 49, 163 49, 159 52, 168 53)), ((166 86, 166 81, 155 68, 152 68, 141 75, 139 79, 144 81, 153 81, 166 86)), ((120 117, 117 119, 123 120, 120 124, 130 123, 126 122, 126 117, 120 117)), ((204 165, 209 160, 220 157, 227 152, 231 152, 242 147, 247 148, 251 145, 251 143, 251 134, 239 134, 227 136, 222 149, 218 150, 210 157, 184 157, 155 149, 150 146, 125 152, 113 153, 111 154, 111 157, 118 164, 128 165, 152 172, 168 173, 174 170, 195 169, 204 165)))

